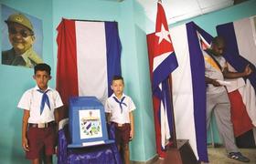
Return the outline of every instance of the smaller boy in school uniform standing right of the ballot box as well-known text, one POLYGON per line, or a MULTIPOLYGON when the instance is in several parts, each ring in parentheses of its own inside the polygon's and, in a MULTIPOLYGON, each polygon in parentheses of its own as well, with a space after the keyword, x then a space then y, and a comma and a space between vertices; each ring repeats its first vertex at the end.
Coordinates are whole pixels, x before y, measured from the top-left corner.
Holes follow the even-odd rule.
POLYGON ((131 97, 123 94, 123 77, 112 78, 113 94, 105 103, 105 112, 108 123, 115 126, 115 142, 124 163, 130 163, 129 141, 133 139, 133 110, 135 105, 131 97))

